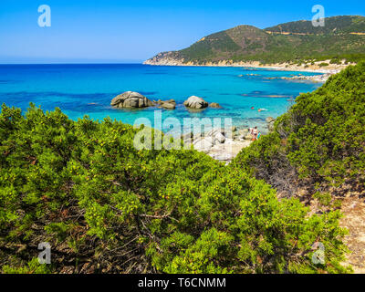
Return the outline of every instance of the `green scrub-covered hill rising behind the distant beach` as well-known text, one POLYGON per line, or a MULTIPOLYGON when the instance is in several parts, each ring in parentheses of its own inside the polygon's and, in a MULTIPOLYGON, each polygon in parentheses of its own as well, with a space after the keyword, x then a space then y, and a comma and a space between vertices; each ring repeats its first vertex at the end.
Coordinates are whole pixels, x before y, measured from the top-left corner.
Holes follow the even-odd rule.
POLYGON ((303 62, 305 60, 347 59, 357 62, 365 57, 365 17, 326 18, 325 27, 310 21, 297 21, 259 29, 234 28, 205 36, 191 47, 163 52, 146 64, 203 65, 219 61, 260 61, 262 63, 303 62))

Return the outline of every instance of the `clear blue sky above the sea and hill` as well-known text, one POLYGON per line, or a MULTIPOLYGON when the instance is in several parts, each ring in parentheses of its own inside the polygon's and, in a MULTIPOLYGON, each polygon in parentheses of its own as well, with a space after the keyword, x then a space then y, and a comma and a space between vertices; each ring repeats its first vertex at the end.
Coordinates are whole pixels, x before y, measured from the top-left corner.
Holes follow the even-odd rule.
POLYGON ((0 63, 141 62, 238 25, 260 28, 326 16, 365 16, 365 1, 1 0, 0 63), (39 27, 39 5, 52 26, 39 27))

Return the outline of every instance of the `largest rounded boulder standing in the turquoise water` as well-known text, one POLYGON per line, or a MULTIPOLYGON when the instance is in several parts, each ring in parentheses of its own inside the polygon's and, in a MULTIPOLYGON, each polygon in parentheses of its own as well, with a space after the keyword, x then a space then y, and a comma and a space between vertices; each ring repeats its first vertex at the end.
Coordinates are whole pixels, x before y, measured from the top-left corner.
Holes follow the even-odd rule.
POLYGON ((153 106, 153 102, 141 93, 127 91, 111 99, 110 105, 116 109, 139 109, 153 106))

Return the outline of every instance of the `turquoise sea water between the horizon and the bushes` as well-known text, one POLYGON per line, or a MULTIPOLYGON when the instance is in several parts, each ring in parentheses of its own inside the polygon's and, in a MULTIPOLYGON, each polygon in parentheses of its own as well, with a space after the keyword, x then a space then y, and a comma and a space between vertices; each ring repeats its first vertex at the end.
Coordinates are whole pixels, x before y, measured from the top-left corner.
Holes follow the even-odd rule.
MULTIPOLYGON (((168 117, 232 118, 237 126, 264 127, 267 117, 287 111, 300 92, 320 84, 306 81, 266 79, 290 77, 298 72, 251 68, 152 67, 120 65, 2 65, 0 102, 26 110, 29 102, 43 110, 63 110, 70 119, 89 115, 133 124, 138 118, 151 119, 156 108, 114 110, 110 100, 132 90, 149 99, 175 99, 176 110, 162 110, 168 117), (254 74, 251 76, 251 74, 254 74), (242 76, 241 76, 242 75, 242 76), (192 95, 218 102, 223 109, 190 112, 183 101, 192 95), (255 110, 251 110, 254 107, 255 110), (258 112, 258 109, 267 111, 258 112)), ((302 72, 303 75, 313 73, 302 72)), ((166 129, 164 129, 166 130, 166 129)))

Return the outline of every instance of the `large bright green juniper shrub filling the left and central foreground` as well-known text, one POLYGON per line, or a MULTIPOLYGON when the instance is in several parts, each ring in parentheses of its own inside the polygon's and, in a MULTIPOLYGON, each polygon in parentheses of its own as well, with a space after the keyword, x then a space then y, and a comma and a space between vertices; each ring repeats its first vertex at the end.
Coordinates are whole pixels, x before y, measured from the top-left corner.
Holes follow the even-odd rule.
POLYGON ((237 164, 197 151, 138 151, 137 131, 3 106, 3 273, 349 271, 338 211, 309 216, 237 164), (52 246, 50 266, 36 262, 41 242, 52 246), (325 264, 312 262, 316 242, 325 264))

